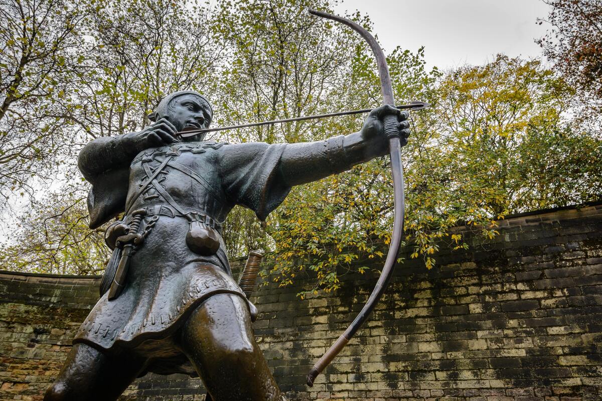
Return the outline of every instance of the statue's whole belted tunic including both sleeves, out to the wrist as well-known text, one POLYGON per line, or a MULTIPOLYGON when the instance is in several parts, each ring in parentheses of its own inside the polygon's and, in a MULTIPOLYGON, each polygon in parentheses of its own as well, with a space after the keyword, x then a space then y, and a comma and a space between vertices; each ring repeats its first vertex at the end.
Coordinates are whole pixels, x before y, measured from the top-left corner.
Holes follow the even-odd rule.
POLYGON ((79 169, 92 182, 90 227, 125 210, 122 221, 136 219, 132 226, 144 242, 130 253, 122 292, 111 300, 107 292, 101 296, 73 343, 147 357, 145 372, 196 375, 174 334, 209 296, 246 298, 232 278, 221 236, 215 254, 188 247, 191 221, 219 232, 237 204, 264 220, 291 186, 364 160, 352 153, 350 158, 342 135, 297 144, 184 142, 134 154, 120 138, 95 139, 79 155, 79 169))

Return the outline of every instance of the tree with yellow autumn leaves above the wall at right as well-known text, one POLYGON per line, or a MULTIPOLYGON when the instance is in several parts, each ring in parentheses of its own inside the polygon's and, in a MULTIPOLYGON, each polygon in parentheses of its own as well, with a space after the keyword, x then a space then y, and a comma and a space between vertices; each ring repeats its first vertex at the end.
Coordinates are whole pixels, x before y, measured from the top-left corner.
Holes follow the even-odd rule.
POLYGON ((480 198, 475 213, 495 219, 600 193, 600 141, 569 126, 573 90, 541 61, 498 55, 448 74, 438 90, 440 174, 458 201, 480 198))

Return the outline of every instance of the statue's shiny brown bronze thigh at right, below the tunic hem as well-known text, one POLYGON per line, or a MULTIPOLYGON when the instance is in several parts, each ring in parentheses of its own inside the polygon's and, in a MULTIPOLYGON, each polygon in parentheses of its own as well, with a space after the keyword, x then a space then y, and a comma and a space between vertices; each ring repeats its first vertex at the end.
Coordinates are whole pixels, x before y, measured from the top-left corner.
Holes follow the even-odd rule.
POLYGON ((182 328, 182 349, 213 401, 282 400, 240 296, 219 294, 203 302, 182 328))

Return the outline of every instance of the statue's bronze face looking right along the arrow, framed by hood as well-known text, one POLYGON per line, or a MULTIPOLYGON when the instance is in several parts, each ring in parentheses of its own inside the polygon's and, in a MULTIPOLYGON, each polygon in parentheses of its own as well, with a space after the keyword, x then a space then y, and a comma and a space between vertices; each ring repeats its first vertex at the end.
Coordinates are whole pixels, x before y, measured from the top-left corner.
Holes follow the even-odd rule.
MULTIPOLYGON (((211 124, 211 111, 205 102, 193 94, 185 94, 173 99, 169 105, 169 114, 167 118, 178 131, 189 127, 207 128, 211 124)), ((199 138, 192 136, 190 139, 199 138)))

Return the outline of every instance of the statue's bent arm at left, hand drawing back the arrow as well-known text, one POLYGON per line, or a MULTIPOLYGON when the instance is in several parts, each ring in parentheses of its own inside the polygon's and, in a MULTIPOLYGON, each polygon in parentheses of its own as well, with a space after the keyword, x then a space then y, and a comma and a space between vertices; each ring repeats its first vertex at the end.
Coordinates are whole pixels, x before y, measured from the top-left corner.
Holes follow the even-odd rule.
POLYGON ((94 183, 99 174, 128 166, 144 149, 177 142, 175 132, 175 127, 162 118, 140 132, 96 138, 79 152, 79 171, 94 183))

